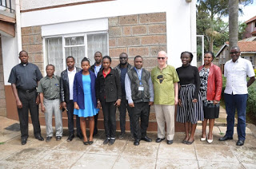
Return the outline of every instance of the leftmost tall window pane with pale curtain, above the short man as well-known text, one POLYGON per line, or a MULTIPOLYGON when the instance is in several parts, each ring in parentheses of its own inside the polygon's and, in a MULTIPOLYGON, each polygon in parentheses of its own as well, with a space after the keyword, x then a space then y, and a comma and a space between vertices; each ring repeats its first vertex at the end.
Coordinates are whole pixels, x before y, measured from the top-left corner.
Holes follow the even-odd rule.
POLYGON ((60 76, 63 69, 62 37, 46 39, 47 63, 55 66, 55 75, 60 76))

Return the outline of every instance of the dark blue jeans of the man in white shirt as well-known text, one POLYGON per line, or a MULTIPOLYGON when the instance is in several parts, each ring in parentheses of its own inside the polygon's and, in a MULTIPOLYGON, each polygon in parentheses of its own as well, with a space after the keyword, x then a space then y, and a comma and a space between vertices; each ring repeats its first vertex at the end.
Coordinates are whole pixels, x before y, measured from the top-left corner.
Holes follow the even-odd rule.
POLYGON ((235 108, 238 111, 238 140, 246 140, 246 102, 248 94, 233 95, 224 94, 226 104, 226 136, 234 134, 234 114, 235 108))

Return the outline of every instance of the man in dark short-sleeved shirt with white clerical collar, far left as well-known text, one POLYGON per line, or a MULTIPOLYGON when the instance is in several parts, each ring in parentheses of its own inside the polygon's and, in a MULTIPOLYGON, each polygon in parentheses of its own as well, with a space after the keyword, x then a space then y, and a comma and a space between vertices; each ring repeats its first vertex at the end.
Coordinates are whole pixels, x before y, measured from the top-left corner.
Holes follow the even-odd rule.
POLYGON ((36 88, 38 81, 42 79, 42 74, 37 65, 28 62, 28 53, 22 50, 19 53, 21 63, 15 65, 11 69, 8 82, 11 83, 11 88, 14 92, 18 118, 22 133, 22 145, 26 144, 28 134, 29 109, 30 116, 34 128, 34 137, 40 141, 44 139, 41 136, 41 128, 38 119, 38 104, 39 96, 36 88))

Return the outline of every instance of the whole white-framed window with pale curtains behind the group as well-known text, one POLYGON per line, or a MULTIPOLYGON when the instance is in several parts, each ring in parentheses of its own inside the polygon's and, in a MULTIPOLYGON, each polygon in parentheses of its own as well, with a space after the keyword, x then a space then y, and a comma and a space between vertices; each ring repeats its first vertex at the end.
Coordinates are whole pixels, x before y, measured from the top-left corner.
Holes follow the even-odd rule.
POLYGON ((75 66, 79 68, 83 57, 89 58, 93 65, 95 52, 100 51, 103 56, 108 54, 107 40, 106 32, 45 37, 46 65, 54 65, 58 76, 66 69, 66 57, 69 56, 74 57, 75 66))

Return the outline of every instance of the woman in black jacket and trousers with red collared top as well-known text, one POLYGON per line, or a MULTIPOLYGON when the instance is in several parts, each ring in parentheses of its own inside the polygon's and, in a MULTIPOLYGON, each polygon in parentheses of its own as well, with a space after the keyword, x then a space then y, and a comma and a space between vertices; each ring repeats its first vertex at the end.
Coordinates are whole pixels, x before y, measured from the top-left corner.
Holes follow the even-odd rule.
POLYGON ((102 58, 103 69, 98 72, 96 79, 96 98, 98 108, 102 107, 104 116, 104 128, 106 140, 103 144, 112 145, 115 141, 116 134, 116 107, 121 104, 122 89, 119 74, 110 67, 111 58, 105 56, 102 58))

